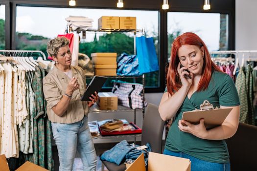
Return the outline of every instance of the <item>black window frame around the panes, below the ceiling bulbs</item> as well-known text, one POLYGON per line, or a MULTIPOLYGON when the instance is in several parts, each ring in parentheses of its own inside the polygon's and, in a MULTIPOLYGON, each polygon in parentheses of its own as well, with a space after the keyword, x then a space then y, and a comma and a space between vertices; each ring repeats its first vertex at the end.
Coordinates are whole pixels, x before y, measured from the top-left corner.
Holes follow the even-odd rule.
MULTIPOLYGON (((35 7, 69 7, 69 8, 102 8, 117 9, 116 0, 80 0, 75 7, 68 5, 68 0, 0 0, 0 4, 5 4, 6 19, 6 49, 15 49, 16 34, 16 6, 35 7)), ((164 92, 165 89, 165 65, 167 65, 167 12, 200 12, 200 13, 223 13, 229 15, 229 42, 228 49, 235 47, 235 0, 213 0, 211 9, 203 10, 203 1, 195 0, 172 0, 169 1, 170 8, 162 9, 162 0, 127 0, 124 2, 126 10, 157 10, 159 11, 159 87, 145 88, 145 92, 164 92)))

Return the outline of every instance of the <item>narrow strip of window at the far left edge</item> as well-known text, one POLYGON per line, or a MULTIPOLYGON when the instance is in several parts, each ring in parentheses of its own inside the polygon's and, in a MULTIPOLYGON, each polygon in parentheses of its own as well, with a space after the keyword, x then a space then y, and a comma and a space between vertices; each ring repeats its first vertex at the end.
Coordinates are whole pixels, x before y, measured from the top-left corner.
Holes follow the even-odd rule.
POLYGON ((5 49, 5 5, 0 4, 0 50, 5 49))

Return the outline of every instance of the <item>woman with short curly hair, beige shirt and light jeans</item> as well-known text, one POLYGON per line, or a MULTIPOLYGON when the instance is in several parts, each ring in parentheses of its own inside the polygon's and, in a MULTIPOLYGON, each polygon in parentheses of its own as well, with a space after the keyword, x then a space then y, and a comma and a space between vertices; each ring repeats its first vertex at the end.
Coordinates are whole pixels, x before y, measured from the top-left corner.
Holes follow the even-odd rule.
POLYGON ((57 145, 60 171, 71 171, 76 151, 82 158, 84 171, 96 169, 96 153, 88 127, 88 112, 97 101, 97 93, 91 102, 80 100, 86 89, 86 77, 80 67, 70 66, 69 40, 58 37, 47 43, 47 53, 56 62, 43 79, 47 100, 47 115, 57 145))

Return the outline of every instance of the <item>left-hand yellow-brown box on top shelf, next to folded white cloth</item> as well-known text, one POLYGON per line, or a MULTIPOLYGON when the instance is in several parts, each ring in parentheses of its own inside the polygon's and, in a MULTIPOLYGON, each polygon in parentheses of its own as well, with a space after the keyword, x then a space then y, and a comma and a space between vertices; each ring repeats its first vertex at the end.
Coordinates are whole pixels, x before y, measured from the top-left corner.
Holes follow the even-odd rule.
POLYGON ((98 19, 98 29, 119 29, 119 17, 102 16, 98 19))

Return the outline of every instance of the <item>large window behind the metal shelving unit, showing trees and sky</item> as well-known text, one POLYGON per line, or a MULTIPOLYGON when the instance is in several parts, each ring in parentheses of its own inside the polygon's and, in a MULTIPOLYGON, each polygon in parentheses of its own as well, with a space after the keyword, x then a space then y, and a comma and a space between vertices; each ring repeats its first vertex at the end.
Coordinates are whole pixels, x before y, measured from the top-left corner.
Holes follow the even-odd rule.
MULTIPOLYGON (((79 8, 49 8, 49 7, 17 7, 16 17, 16 49, 42 50, 46 54, 47 41, 64 34, 69 16, 86 16, 93 19, 93 28, 101 16, 137 17, 137 29, 145 28, 146 35, 153 37, 159 57, 158 42, 158 11, 118 10, 118 9, 79 9, 79 8), (53 17, 54 16, 54 17, 53 17), (148 20, 148 19, 151 20, 148 20)), ((137 36, 142 34, 137 33, 137 36)), ((81 39, 79 52, 90 57, 93 52, 122 52, 134 54, 133 33, 95 33, 87 32, 86 39, 81 39)), ((140 80, 140 79, 138 79, 140 80)), ((130 81, 130 80, 128 80, 130 81)), ((139 81, 140 82, 140 81, 139 81)), ((159 86, 159 72, 146 74, 146 87, 159 86)), ((107 85, 111 86, 111 84, 107 85)))

